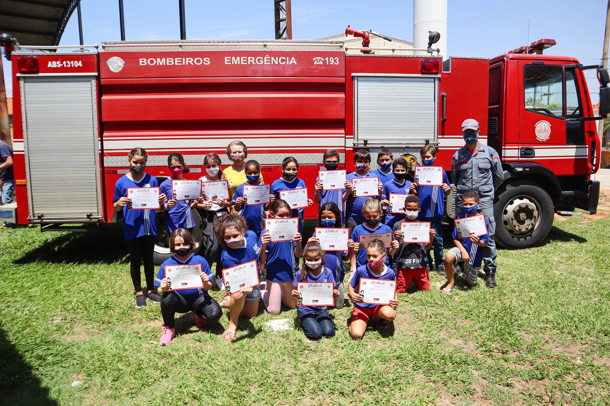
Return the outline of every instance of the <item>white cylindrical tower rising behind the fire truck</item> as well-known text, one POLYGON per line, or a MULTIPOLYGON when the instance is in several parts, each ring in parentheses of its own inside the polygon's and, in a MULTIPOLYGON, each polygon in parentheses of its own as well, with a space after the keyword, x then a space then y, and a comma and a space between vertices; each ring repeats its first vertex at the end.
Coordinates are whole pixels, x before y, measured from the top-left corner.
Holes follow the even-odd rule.
POLYGON ((428 31, 440 32, 432 48, 440 48, 443 60, 447 59, 447 0, 413 0, 413 48, 428 48, 428 31))

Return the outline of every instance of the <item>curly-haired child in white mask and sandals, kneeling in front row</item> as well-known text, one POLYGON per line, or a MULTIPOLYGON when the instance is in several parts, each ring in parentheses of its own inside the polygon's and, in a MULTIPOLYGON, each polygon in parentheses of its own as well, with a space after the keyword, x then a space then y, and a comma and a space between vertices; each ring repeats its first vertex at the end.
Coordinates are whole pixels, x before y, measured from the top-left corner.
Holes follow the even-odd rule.
MULTIPOLYGON (((237 213, 230 213, 216 223, 218 241, 224 246, 220 260, 223 269, 233 268, 246 262, 258 261, 260 247, 256 233, 248 230, 246 219, 237 213)), ((260 277, 260 265, 257 262, 260 277)), ((221 306, 229 308, 229 328, 224 332, 224 340, 234 341, 239 316, 251 319, 259 310, 260 287, 245 288, 234 294, 227 294, 221 306)))

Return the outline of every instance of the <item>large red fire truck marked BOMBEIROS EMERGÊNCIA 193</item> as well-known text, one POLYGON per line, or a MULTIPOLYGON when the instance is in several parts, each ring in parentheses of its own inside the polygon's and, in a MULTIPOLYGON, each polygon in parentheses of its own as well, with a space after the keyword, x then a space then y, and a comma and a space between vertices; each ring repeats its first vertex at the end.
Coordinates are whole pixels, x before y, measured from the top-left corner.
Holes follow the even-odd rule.
MULTIPOLYGON (((375 168, 382 147, 419 160, 423 145, 436 144, 436 164, 451 179, 465 118, 477 119, 479 139, 501 154, 495 217, 502 246, 539 243, 558 210, 597 210, 599 184, 590 175, 600 160, 598 118, 582 71, 590 67, 572 57, 526 47, 491 60, 443 62, 346 54, 341 41, 317 40, 117 41, 103 48, 12 54, 18 223, 60 230, 117 221, 115 182, 136 146, 148 151, 146 171, 160 180, 170 175, 171 152, 184 155, 196 179, 205 174, 204 155, 216 152, 224 168, 231 163, 226 146, 242 140, 265 182, 281 176, 284 157, 296 157, 310 198, 329 148, 351 171, 357 149, 370 151, 375 168)), ((598 72, 600 113, 608 113, 608 73, 598 72)), ((450 216, 452 205, 450 198, 450 216)), ((317 207, 305 213, 315 218, 317 207)), ((168 238, 158 229, 163 256, 168 238)))

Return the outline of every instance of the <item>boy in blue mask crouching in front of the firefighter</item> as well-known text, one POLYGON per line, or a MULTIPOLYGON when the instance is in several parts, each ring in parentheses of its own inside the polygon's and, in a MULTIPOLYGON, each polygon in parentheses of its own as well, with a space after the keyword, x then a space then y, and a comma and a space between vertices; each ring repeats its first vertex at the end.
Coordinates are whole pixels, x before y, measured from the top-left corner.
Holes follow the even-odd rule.
MULTIPOLYGON (((462 195, 462 209, 464 214, 458 219, 476 216, 479 213, 476 210, 479 208, 479 194, 474 190, 467 190, 462 195)), ((489 230, 489 222, 485 219, 485 225, 489 230)), ((470 237, 458 235, 457 227, 453 230, 453 244, 445 255, 445 271, 447 272, 447 286, 443 288, 443 294, 451 296, 453 290, 453 269, 458 262, 464 262, 463 272, 464 277, 469 286, 476 284, 476 276, 479 274, 481 262, 483 261, 483 247, 489 243, 489 233, 476 237, 471 234, 470 237)))

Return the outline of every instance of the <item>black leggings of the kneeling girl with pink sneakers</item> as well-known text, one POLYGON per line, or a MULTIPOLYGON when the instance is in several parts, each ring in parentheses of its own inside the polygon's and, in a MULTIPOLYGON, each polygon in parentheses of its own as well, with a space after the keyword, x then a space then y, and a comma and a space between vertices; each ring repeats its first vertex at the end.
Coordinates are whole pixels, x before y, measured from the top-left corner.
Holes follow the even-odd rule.
POLYGON ((161 298, 161 315, 163 324, 170 329, 174 328, 174 315, 195 310, 197 317, 203 317, 207 321, 217 321, 223 315, 220 305, 209 294, 199 296, 194 302, 187 301, 181 294, 174 291, 165 292, 161 298))

